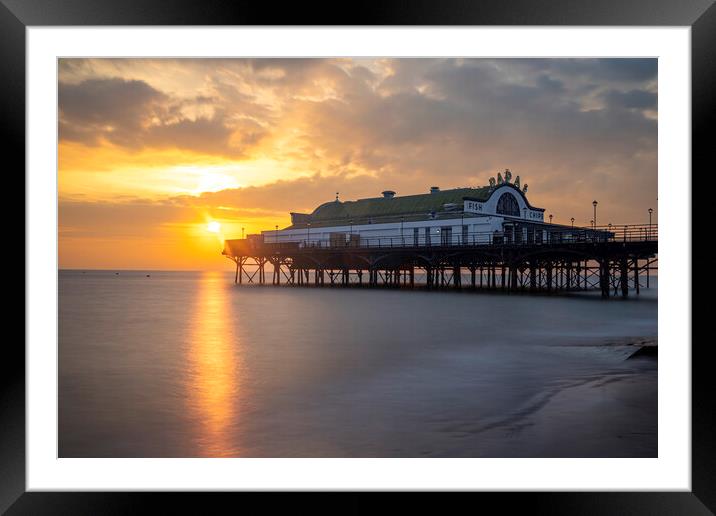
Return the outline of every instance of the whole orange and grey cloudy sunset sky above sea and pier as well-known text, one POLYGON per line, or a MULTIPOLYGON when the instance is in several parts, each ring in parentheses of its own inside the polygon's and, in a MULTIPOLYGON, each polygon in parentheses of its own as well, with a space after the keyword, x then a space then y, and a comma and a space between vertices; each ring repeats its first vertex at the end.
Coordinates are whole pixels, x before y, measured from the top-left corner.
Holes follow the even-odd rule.
POLYGON ((594 199, 657 221, 656 59, 60 59, 58 81, 60 268, 231 269, 224 238, 336 192, 507 168, 555 223, 594 199))

